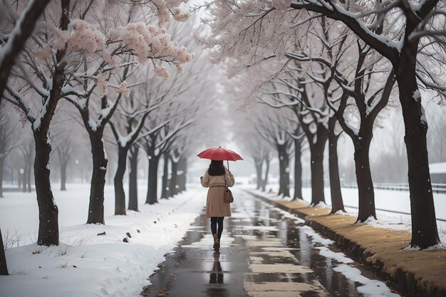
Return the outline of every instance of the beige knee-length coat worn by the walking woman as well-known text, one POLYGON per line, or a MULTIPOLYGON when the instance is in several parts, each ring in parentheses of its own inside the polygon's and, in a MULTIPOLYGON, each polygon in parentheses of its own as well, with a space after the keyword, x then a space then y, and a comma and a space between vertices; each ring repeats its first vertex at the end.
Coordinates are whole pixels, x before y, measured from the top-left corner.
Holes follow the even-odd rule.
POLYGON ((224 179, 228 187, 234 186, 235 179, 229 170, 224 167, 224 175, 212 176, 204 172, 201 179, 203 187, 209 187, 207 190, 206 217, 231 217, 231 204, 224 203, 224 179))

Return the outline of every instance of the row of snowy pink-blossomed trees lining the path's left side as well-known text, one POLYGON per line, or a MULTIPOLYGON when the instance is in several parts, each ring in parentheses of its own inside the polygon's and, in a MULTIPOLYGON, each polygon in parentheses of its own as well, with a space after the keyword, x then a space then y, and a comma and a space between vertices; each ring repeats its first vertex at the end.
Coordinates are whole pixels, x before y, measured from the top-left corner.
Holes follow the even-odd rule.
MULTIPOLYGON (((49 246, 59 243, 58 208, 50 182, 51 139, 60 133, 56 150, 64 179, 73 137, 63 119, 73 116, 73 108, 91 147, 87 223, 105 224, 108 157, 104 136, 113 137, 118 151, 115 214, 126 213, 123 179, 128 160, 128 209, 138 211, 136 173, 141 152, 149 160, 146 203, 159 199, 157 169, 161 157, 165 165, 161 198, 172 197, 185 189, 187 156, 199 142, 199 137, 190 135, 199 121, 206 119, 209 105, 204 100, 212 98, 209 90, 213 82, 204 52, 195 57, 189 52, 197 50, 187 36, 198 22, 187 21, 189 13, 179 7, 184 1, 61 0, 47 7, 40 2, 4 2, 9 10, 2 18, 8 23, 1 27, 0 58, 9 61, 0 69, 5 77, 1 104, 14 106, 21 122, 31 127, 39 212, 37 244, 49 246), (31 20, 27 14, 34 5, 40 8, 41 23, 38 16, 31 20), (170 19, 187 23, 180 26, 170 19), (23 29, 24 24, 28 30, 23 29), (22 41, 19 46, 14 43, 16 39, 22 41), (16 46, 13 49, 11 42, 16 46), (11 61, 15 62, 11 65, 11 61), (61 102, 70 106, 63 107, 61 102), (56 118, 61 121, 54 123, 56 118)), ((13 142, 11 138, 2 147, 10 152, 13 142)), ((6 274, 3 249, 0 254, 1 273, 6 274)))

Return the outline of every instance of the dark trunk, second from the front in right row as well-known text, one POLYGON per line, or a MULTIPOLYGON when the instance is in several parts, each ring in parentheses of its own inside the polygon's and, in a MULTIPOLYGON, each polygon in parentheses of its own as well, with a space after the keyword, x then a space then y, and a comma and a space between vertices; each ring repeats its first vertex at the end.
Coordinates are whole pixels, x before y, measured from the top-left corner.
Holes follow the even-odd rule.
MULTIPOLYGON (((362 134, 361 134, 362 135, 362 134)), ((370 160, 368 156, 371 132, 368 137, 362 135, 354 140, 356 181, 358 182, 358 219, 356 222, 365 222, 369 217, 376 219, 375 192, 373 191, 372 174, 370 173, 370 160)))

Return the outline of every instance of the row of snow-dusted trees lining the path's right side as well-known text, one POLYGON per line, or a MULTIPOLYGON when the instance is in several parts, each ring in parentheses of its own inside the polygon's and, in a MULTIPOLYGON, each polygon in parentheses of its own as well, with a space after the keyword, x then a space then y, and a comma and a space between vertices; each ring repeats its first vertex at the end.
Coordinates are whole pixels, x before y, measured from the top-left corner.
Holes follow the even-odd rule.
MULTIPOLYGON (((291 120, 299 125, 287 133, 292 135, 289 139, 298 138, 296 130, 301 129, 306 136, 311 154, 312 204, 324 200, 321 161, 327 140, 331 194, 341 201, 336 126, 351 138, 358 222, 376 217, 370 141, 380 111, 390 104, 392 96, 398 97, 408 156, 410 245, 425 249, 438 244, 439 237, 421 95, 437 96, 438 101, 445 95, 445 12, 445 3, 438 0, 377 4, 273 1, 272 6, 256 0, 219 1, 207 19, 211 36, 202 42, 216 48, 214 61, 229 61, 231 75, 256 78, 254 83, 239 80, 240 89, 251 90, 244 92, 251 93, 248 97, 271 108, 292 110, 291 120)), ((286 114, 280 118, 290 119, 286 114)), ((284 125, 283 121, 273 122, 284 125)), ((280 133, 274 137, 279 160, 286 162, 280 153, 284 149, 279 149, 286 147, 286 142, 280 133)), ((333 211, 342 207, 335 201, 334 205, 333 211)))

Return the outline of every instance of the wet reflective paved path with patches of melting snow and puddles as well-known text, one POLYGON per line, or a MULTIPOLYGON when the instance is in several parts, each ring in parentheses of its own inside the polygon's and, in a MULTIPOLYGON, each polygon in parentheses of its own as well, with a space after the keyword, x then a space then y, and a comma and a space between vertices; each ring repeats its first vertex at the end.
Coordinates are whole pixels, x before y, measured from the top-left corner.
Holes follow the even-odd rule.
POLYGON ((398 296, 361 264, 328 249, 329 240, 300 219, 245 192, 234 197, 220 252, 212 250, 209 219, 202 214, 142 295, 398 296))

